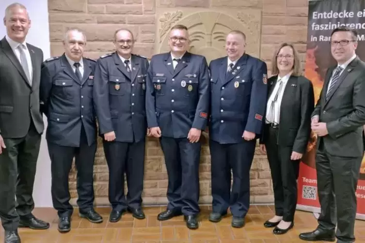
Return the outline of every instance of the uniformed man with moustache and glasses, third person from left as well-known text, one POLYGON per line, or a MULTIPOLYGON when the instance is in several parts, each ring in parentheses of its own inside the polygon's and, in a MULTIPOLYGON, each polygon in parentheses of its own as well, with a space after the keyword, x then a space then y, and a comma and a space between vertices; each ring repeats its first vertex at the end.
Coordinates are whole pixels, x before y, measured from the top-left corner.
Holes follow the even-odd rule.
POLYGON ((126 210, 135 218, 145 218, 142 191, 145 136, 149 133, 145 112, 148 60, 131 54, 134 42, 130 30, 117 30, 116 51, 101 56, 95 69, 94 100, 109 167, 111 222, 119 221, 126 210))

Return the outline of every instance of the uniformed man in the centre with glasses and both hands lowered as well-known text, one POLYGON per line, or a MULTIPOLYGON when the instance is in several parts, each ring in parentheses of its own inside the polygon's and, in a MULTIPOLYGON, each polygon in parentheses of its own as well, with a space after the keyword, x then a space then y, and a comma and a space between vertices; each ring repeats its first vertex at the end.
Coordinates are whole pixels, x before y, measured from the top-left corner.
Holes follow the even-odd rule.
POLYGON ((148 127, 160 138, 169 179, 169 204, 158 219, 182 213, 188 228, 198 228, 199 138, 208 118, 208 67, 205 57, 187 52, 185 26, 172 28, 169 45, 170 52, 152 57, 147 75, 148 127))

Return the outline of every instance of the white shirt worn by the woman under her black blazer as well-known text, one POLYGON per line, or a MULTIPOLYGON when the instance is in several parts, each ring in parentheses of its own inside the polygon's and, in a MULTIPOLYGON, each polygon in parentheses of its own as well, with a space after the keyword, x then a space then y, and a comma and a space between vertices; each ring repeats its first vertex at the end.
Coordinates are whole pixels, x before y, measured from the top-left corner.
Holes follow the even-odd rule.
POLYGON ((278 75, 278 79, 276 81, 275 87, 274 87, 273 91, 271 92, 270 97, 268 99, 267 110, 266 110, 266 123, 273 122, 273 123, 279 124, 281 101, 283 99, 284 90, 285 90, 286 84, 287 84, 290 76, 291 76, 291 72, 284 77, 280 77, 278 75), (282 84, 282 88, 281 88, 280 92, 278 93, 278 98, 277 98, 276 102, 274 103, 274 116, 273 116, 274 120, 272 121, 272 115, 270 114, 270 111, 271 111, 270 107, 271 107, 272 101, 274 101, 276 93, 279 90, 279 86, 280 86, 281 82, 283 84, 282 84))

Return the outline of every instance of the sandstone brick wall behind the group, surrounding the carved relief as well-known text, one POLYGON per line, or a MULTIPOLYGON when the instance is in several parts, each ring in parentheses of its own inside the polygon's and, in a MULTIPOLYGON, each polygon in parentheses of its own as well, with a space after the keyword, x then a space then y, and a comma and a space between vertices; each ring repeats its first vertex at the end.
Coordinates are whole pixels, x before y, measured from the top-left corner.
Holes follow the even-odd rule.
MULTIPOLYGON (((133 31, 137 43, 135 53, 151 57, 163 49, 161 41, 166 23, 174 15, 159 17, 159 11, 177 11, 176 15, 185 12, 246 11, 244 15, 232 15, 245 26, 248 43, 257 48, 249 53, 263 59, 270 68, 270 59, 274 48, 283 42, 293 42, 301 53, 302 62, 305 56, 307 30, 308 0, 48 0, 49 31, 51 55, 63 53, 62 38, 67 28, 79 27, 86 32, 87 57, 96 59, 100 55, 113 51, 113 32, 121 27, 133 31), (252 19, 257 19, 255 26, 252 19), (163 25, 163 26, 162 26, 163 25), (161 33, 162 31, 162 33, 161 33), (258 40, 250 37, 258 35, 258 40), (255 43, 256 42, 256 43, 255 43), (258 42, 258 43, 257 43, 258 42)), ((209 25, 209 16, 203 22, 209 25)), ((191 21, 191 20, 189 20, 191 21)), ((215 19, 211 19, 215 21, 215 19)), ((226 26, 229 28, 229 25, 226 26)), ((257 37, 255 37, 257 38, 257 37)), ((223 45, 220 44, 223 50, 223 45)), ((222 53, 222 52, 221 52, 222 53)), ((224 51, 223 51, 224 53, 224 51)), ((270 76, 270 73, 269 73, 270 76)), ((209 148, 205 142, 202 148, 200 165, 201 202, 211 203, 210 196, 210 158, 209 148)), ((72 201, 76 201, 76 171, 70 174, 70 191, 72 201)), ((270 168, 266 156, 256 150, 251 169, 251 201, 253 203, 273 202, 270 168)), ((148 138, 146 142, 145 182, 143 200, 145 204, 164 204, 166 202, 167 173, 163 154, 156 139, 148 138)), ((95 159, 95 197, 99 205, 108 204, 108 167, 103 149, 99 146, 95 159)))

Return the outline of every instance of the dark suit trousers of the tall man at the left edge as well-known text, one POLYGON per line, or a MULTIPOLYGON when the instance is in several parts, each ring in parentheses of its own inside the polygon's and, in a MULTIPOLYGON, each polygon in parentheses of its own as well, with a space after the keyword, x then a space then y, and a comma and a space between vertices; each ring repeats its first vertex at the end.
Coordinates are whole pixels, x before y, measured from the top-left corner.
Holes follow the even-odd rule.
POLYGON ((16 230, 20 217, 34 209, 33 185, 41 135, 31 122, 22 138, 5 138, 0 154, 0 218, 5 230, 16 230), (16 197, 16 198, 15 198, 16 197))

